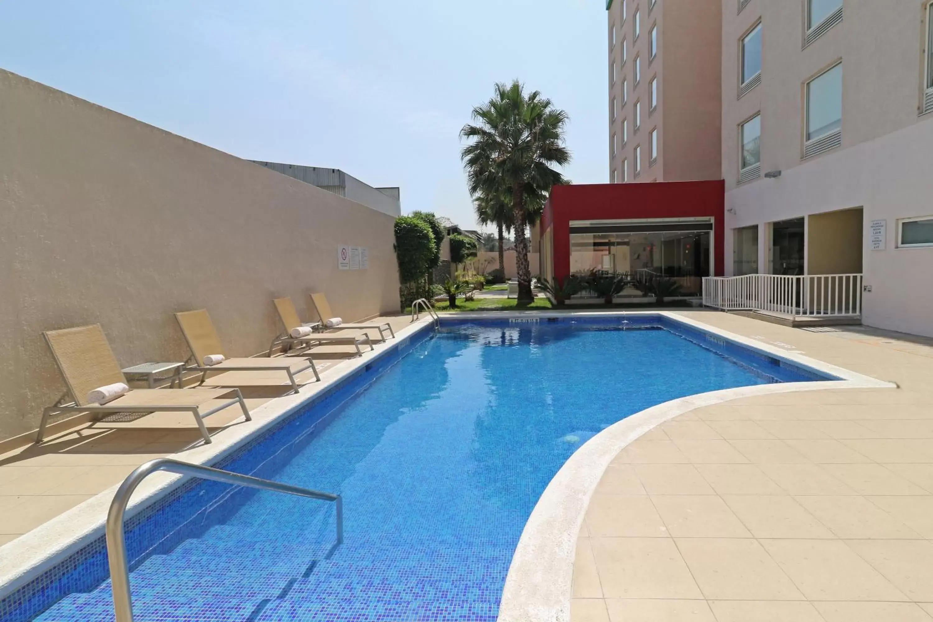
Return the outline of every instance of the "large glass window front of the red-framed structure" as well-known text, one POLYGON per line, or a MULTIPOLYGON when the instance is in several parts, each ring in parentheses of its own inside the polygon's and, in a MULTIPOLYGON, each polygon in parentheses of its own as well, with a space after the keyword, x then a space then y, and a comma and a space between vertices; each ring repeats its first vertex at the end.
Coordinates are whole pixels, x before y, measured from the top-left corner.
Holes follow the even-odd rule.
MULTIPOLYGON (((648 231, 603 233, 595 228, 594 232, 573 232, 570 234, 570 271, 574 274, 592 270, 624 273, 633 281, 638 277, 664 277, 679 283, 683 296, 699 295, 703 291, 703 277, 710 275, 711 227, 699 223, 694 227, 703 230, 663 230, 683 228, 666 225, 650 223, 646 225, 648 231)), ((575 229, 578 228, 571 225, 571 230, 575 229)), ((642 296, 634 283, 621 295, 642 296)))

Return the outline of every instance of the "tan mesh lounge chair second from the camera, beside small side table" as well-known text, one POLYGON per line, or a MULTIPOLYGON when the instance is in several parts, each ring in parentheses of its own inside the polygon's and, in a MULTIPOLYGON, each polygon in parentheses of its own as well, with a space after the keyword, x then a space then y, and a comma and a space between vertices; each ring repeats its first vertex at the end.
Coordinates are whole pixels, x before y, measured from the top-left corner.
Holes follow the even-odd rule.
POLYGON ((188 341, 188 348, 191 349, 191 356, 194 359, 194 365, 188 369, 200 371, 201 382, 207 380, 209 372, 223 371, 284 371, 291 382, 292 389, 298 393, 298 382, 295 380, 296 374, 311 369, 314 372, 314 379, 318 382, 321 377, 317 374, 317 367, 310 356, 308 357, 290 357, 290 358, 228 358, 219 365, 204 365, 204 357, 211 354, 223 354, 227 356, 224 347, 220 344, 220 338, 217 337, 217 331, 214 323, 211 322, 211 316, 206 309, 198 311, 182 311, 175 313, 175 319, 181 326, 181 332, 188 341))

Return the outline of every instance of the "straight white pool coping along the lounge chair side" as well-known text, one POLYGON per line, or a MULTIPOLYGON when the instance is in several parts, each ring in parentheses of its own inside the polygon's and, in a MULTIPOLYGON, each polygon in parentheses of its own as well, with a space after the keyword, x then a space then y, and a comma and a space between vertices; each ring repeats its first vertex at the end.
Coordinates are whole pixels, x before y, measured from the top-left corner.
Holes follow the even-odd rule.
MULTIPOLYGON (((221 431, 212 436, 211 444, 188 449, 184 454, 172 454, 166 457, 187 463, 216 463, 236 449, 255 440, 299 408, 303 408, 313 400, 315 395, 339 384, 372 361, 382 358, 394 347, 405 347, 415 333, 425 329, 430 323, 429 318, 416 321, 398 330, 396 339, 374 343, 374 351, 341 361, 339 366, 335 366, 338 373, 322 372, 320 382, 305 384, 299 388, 298 394, 276 397, 258 408, 251 409, 253 421, 239 422, 221 431)), ((132 518, 173 491, 184 479, 187 477, 164 472, 146 477, 132 495, 132 501, 126 510, 126 518, 132 518)), ((6 545, 0 546, 0 599, 6 598, 35 577, 76 553, 83 546, 102 537, 107 510, 118 486, 119 484, 98 493, 91 499, 39 525, 33 531, 24 533, 6 545)))

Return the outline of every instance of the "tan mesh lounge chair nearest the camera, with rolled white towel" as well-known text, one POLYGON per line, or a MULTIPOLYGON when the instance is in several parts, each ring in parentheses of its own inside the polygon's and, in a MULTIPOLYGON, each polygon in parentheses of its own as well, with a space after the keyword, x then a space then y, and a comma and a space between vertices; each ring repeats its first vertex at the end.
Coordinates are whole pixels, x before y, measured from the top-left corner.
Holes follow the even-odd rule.
POLYGON ((88 402, 88 394, 94 389, 126 382, 117 363, 117 357, 110 349, 100 325, 79 326, 50 330, 42 333, 49 344, 55 364, 62 372, 67 391, 55 404, 42 411, 42 422, 35 442, 41 443, 45 435, 46 424, 51 412, 91 412, 105 415, 115 412, 177 412, 188 411, 198 423, 198 429, 205 443, 211 442, 203 419, 224 408, 239 403, 243 408, 246 421, 250 421, 249 410, 243 401, 239 389, 132 389, 117 399, 104 405, 88 402), (220 404, 211 404, 222 395, 235 394, 232 399, 220 404), (211 408, 202 412, 202 408, 211 408))

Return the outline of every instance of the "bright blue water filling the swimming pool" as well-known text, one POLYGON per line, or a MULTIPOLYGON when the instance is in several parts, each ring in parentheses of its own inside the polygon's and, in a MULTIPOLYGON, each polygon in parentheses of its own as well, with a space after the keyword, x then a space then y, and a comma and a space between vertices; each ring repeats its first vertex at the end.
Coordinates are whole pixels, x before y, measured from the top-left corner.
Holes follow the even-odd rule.
MULTIPOLYGON (((136 619, 493 621, 525 521, 592 435, 676 397, 818 380, 678 332, 448 325, 256 472, 340 493, 343 545, 330 504, 218 498, 191 537, 134 564, 136 619)), ((112 619, 109 583, 36 619, 112 619)))

